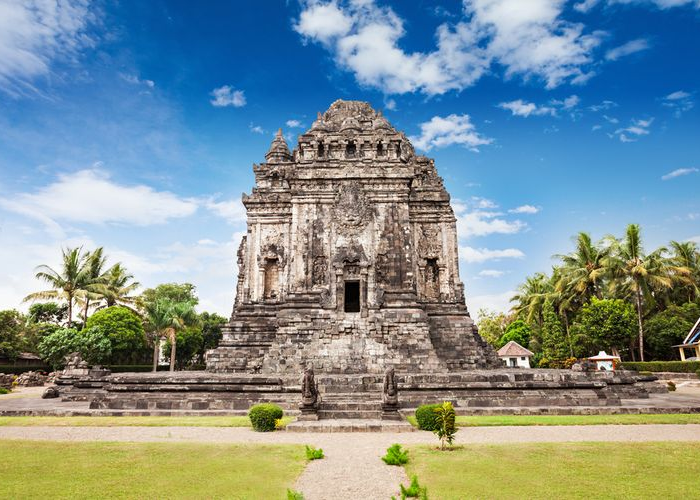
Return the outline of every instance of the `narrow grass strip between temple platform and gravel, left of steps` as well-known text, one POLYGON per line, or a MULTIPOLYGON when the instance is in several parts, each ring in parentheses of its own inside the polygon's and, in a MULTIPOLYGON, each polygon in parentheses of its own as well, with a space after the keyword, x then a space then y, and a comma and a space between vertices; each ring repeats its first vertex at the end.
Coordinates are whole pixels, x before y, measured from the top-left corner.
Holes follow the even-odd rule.
MULTIPOLYGON (((282 418, 283 425, 294 417, 282 418)), ((20 427, 250 427, 248 417, 0 417, 20 427)))

